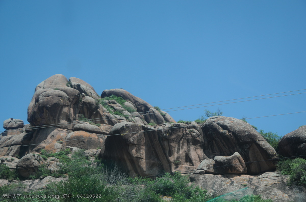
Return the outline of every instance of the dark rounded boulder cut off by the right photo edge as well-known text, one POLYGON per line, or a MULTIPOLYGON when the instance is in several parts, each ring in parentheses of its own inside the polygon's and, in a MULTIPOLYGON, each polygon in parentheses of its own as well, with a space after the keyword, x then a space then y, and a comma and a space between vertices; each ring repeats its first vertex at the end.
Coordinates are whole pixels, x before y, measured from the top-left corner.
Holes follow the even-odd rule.
POLYGON ((292 157, 306 154, 306 125, 284 135, 279 141, 279 154, 292 157))

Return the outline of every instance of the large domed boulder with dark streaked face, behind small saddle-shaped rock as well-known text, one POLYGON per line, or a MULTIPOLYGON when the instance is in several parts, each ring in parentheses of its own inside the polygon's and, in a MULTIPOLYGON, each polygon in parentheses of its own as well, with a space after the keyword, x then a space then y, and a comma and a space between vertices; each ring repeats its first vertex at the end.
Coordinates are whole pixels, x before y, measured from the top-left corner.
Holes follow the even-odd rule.
POLYGON ((276 151, 248 123, 230 117, 210 117, 202 126, 204 153, 208 158, 230 156, 239 152, 249 174, 274 170, 278 158, 276 151), (256 163, 247 163, 260 161, 256 163))

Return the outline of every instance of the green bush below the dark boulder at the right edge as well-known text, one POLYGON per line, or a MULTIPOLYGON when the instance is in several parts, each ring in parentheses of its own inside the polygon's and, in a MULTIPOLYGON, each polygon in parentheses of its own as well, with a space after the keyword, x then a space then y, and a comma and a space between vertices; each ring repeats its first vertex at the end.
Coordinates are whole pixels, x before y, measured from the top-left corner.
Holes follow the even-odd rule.
POLYGON ((306 186, 306 160, 302 158, 285 159, 276 165, 282 175, 290 175, 288 185, 306 186))

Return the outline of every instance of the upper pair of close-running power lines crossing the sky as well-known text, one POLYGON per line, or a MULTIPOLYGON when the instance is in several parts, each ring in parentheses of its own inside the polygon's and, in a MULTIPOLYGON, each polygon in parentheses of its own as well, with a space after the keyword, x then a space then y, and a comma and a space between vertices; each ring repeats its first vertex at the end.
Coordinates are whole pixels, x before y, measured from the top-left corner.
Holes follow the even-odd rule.
MULTIPOLYGON (((302 89, 305 90, 305 89, 302 89)), ((301 91, 301 90, 295 90, 295 91, 301 91)), ((293 91, 288 91, 288 92, 293 92, 293 91)), ((280 93, 284 93, 284 92, 280 92, 280 93)), ((267 94, 267 95, 273 95, 273 94, 280 94, 280 93, 272 93, 272 94, 267 94)), ((199 107, 191 107, 191 108, 185 108, 185 109, 178 109, 178 110, 169 110, 169 111, 165 111, 165 112, 171 112, 171 111, 179 111, 179 110, 188 110, 188 109, 196 109, 196 108, 202 108, 202 107, 208 107, 208 106, 217 106, 217 105, 224 105, 224 104, 232 104, 232 103, 240 103, 240 102, 248 102, 248 101, 253 101, 253 100, 260 100, 260 99, 269 99, 269 98, 276 98, 276 97, 283 97, 283 96, 291 96, 291 95, 299 95, 299 94, 304 94, 306 92, 302 92, 302 93, 294 93, 294 94, 289 94, 289 95, 282 95, 282 96, 273 96, 273 97, 267 97, 267 98, 258 98, 258 99, 250 99, 250 100, 243 100, 243 101, 236 101, 236 102, 230 102, 230 103, 221 103, 221 104, 215 104, 215 105, 207 105, 207 106, 199 106, 199 107)), ((265 95, 261 95, 261 96, 265 96, 265 95)), ((252 96, 252 97, 259 97, 259 96, 252 96)), ((238 98, 238 99, 245 99, 245 98, 238 98)), ((237 100, 237 99, 232 99, 232 100, 237 100)), ((218 102, 224 102, 224 101, 217 101, 217 102, 213 102, 213 103, 218 103, 218 102)), ((197 105, 202 105, 202 104, 197 104, 197 105)), ((190 105, 190 106, 195 106, 195 105, 190 105)), ((183 106, 182 106, 183 107, 183 106)), ((181 107, 174 107, 174 108, 181 108, 181 107)), ((174 109, 174 108, 168 108, 168 109, 174 109)), ((139 112, 139 114, 141 113, 148 113, 151 111, 145 111, 145 112, 139 112)), ((159 112, 151 112, 149 114, 156 114, 159 112)), ((132 115, 131 115, 132 116, 132 115)), ((129 116, 130 117, 130 116, 129 116)), ((101 117, 101 118, 94 118, 94 119, 87 119, 86 121, 106 121, 106 120, 111 120, 111 119, 117 119, 117 118, 108 118, 108 117, 101 117)), ((45 127, 42 126, 34 126, 34 127, 30 127, 27 129, 38 129, 38 128, 49 128, 49 127, 55 127, 55 126, 64 126, 64 125, 70 125, 75 123, 76 121, 71 121, 71 122, 67 122, 65 124, 48 124, 48 125, 43 125, 45 127), (70 123, 70 124, 69 124, 70 123)), ((16 128, 16 129, 10 129, 10 130, 18 130, 20 128, 16 128)), ((5 132, 5 131, 0 131, 0 132, 5 132)))

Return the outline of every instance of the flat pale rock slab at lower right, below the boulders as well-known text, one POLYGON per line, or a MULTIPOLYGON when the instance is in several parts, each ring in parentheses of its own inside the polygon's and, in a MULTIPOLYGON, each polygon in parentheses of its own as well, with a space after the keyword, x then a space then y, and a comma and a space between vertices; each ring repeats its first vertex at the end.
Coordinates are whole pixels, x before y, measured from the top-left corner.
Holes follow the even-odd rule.
POLYGON ((221 199, 240 199, 245 195, 261 195, 263 199, 277 202, 304 201, 304 188, 286 186, 288 176, 277 172, 266 172, 260 175, 190 175, 191 182, 206 189, 213 197, 221 199))

